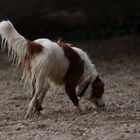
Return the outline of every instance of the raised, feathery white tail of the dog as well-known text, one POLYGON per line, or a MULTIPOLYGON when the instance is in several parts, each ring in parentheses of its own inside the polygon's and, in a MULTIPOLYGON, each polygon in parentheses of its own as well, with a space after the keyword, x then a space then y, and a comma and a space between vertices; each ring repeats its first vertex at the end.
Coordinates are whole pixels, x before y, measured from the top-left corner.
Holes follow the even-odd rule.
POLYGON ((11 56, 13 60, 17 60, 18 63, 27 51, 27 40, 20 35, 13 24, 7 20, 0 22, 0 35, 2 38, 2 49, 8 49, 8 56, 11 56))

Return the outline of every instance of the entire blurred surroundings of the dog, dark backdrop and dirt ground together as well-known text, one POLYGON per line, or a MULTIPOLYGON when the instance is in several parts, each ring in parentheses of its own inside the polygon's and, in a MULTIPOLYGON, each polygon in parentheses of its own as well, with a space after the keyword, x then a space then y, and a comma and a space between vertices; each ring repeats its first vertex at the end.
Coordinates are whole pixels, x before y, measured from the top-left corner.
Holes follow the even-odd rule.
POLYGON ((30 91, 0 49, 0 140, 140 140, 140 0, 1 0, 3 19, 27 39, 62 38, 86 51, 106 108, 83 100, 81 115, 65 93, 49 92, 42 115, 23 122, 30 91))

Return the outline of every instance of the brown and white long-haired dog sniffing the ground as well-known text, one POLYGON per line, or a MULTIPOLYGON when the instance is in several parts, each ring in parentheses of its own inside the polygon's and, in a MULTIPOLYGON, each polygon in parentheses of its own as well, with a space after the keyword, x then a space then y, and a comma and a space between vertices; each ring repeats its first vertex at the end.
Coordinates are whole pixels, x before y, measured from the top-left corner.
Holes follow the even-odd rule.
POLYGON ((29 41, 20 35, 10 21, 0 22, 2 48, 8 47, 18 64, 23 68, 22 79, 31 83, 32 100, 25 118, 33 111, 42 110, 42 102, 50 83, 64 85, 65 91, 79 108, 79 98, 87 88, 91 99, 98 107, 104 107, 104 83, 88 55, 79 48, 62 41, 37 39, 29 41), (79 92, 76 94, 76 88, 79 92))

